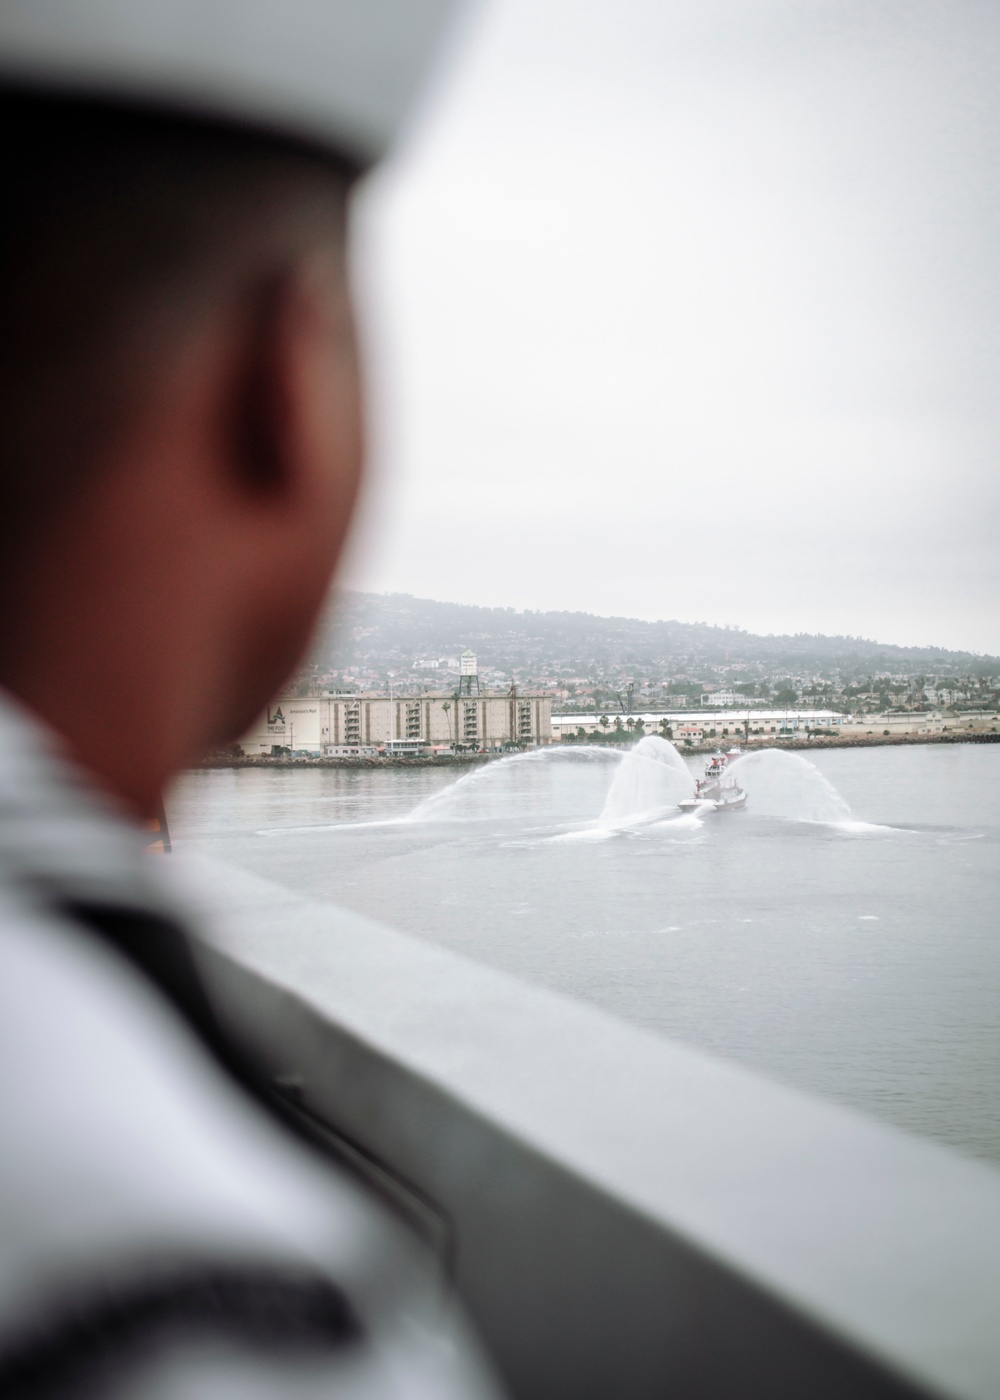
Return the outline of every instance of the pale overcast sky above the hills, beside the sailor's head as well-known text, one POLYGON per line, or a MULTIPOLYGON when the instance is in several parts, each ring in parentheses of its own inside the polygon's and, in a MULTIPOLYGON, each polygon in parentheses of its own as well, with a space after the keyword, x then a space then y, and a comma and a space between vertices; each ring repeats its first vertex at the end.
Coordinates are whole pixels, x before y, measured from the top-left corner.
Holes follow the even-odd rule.
POLYGON ((357 587, 1000 652, 1000 4, 493 0, 359 209, 357 587))

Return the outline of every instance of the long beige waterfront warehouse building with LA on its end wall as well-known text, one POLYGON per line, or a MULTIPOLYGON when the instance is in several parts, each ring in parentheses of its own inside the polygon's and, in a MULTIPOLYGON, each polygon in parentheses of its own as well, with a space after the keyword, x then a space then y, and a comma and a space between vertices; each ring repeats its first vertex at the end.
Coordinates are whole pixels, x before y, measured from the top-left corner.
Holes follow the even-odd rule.
POLYGON ((270 753, 282 746, 331 756, 550 742, 550 696, 497 690, 458 696, 286 696, 269 706, 241 741, 245 753, 270 753))

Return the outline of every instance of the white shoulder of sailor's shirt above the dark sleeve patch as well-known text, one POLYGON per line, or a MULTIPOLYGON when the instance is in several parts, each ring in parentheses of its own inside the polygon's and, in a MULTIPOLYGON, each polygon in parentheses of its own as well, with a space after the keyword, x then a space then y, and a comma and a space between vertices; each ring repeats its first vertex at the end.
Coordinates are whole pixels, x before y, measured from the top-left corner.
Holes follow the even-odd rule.
POLYGON ((1 881, 0 1114, 0 1301, 48 1253, 349 1266, 368 1233, 350 1184, 230 1085, 155 988, 1 881))

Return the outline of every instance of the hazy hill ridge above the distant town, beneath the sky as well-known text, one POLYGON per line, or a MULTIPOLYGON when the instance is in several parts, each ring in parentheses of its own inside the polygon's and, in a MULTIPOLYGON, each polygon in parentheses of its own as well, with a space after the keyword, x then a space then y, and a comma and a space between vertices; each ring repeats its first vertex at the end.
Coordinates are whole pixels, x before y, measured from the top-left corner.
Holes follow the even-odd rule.
POLYGON ((643 622, 583 612, 518 612, 437 602, 409 594, 343 591, 321 648, 335 668, 412 665, 416 657, 466 647, 499 671, 524 666, 738 666, 768 671, 1000 672, 1000 658, 944 647, 899 647, 812 633, 758 636, 709 623, 643 622))

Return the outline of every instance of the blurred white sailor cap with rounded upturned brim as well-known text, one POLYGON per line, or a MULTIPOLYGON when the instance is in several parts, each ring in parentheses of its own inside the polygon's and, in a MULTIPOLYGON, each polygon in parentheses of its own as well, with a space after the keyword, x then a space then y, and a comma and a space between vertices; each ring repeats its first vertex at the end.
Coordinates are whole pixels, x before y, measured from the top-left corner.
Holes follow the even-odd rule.
POLYGON ((388 148, 455 0, 0 0, 0 83, 388 148))

